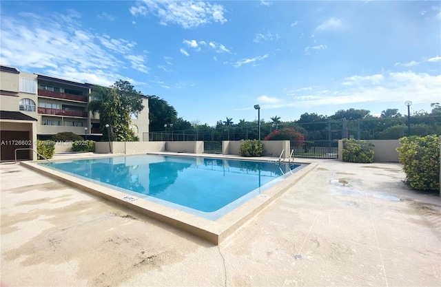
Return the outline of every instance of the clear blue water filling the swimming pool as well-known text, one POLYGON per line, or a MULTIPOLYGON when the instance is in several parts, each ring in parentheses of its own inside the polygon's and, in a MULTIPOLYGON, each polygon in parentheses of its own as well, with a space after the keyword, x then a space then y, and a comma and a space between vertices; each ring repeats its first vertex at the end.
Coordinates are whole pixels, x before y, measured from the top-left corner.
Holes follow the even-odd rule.
POLYGON ((161 155, 39 164, 212 220, 301 167, 300 164, 161 155), (221 209, 225 212, 219 213, 221 209))

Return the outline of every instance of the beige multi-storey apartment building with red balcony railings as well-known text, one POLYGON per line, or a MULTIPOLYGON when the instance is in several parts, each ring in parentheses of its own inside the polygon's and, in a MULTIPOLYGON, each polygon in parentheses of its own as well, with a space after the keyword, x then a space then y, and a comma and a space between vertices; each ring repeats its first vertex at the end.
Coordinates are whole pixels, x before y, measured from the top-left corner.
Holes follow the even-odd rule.
MULTIPOLYGON (((1 160, 13 160, 17 148, 37 149, 37 138, 49 139, 63 131, 101 140, 99 114, 88 111, 94 87, 0 65, 1 160)), ((149 131, 147 96, 143 96, 143 105, 141 113, 132 115, 130 124, 141 140, 149 131)), ((34 159, 32 151, 17 151, 17 156, 34 159)))

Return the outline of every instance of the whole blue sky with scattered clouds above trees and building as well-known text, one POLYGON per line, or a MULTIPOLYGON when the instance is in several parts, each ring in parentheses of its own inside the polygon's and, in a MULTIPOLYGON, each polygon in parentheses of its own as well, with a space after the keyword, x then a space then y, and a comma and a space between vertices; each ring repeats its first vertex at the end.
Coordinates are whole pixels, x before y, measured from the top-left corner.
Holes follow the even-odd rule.
POLYGON ((185 120, 441 102, 439 1, 1 1, 0 63, 127 80, 185 120))

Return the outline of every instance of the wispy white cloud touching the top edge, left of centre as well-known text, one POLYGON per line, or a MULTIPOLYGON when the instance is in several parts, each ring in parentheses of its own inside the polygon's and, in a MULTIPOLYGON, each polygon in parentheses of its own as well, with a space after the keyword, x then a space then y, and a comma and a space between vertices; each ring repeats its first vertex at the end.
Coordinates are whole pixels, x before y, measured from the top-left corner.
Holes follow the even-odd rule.
POLYGON ((183 28, 194 28, 207 23, 225 23, 223 14, 227 12, 221 5, 208 1, 161 1, 143 0, 130 8, 133 16, 154 14, 159 23, 174 23, 183 28))

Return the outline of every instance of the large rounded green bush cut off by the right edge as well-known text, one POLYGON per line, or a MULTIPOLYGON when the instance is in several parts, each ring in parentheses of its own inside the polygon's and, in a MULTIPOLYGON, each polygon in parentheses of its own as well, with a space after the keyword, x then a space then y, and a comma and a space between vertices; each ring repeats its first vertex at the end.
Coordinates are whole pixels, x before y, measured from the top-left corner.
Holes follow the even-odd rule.
POLYGON ((440 188, 441 136, 400 138, 398 160, 406 173, 406 184, 417 190, 440 188))

